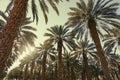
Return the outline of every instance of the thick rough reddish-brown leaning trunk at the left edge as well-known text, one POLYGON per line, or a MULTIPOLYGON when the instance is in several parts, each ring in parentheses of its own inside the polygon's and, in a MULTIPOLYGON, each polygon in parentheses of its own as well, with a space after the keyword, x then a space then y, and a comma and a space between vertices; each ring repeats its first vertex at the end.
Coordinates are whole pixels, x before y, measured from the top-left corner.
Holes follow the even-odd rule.
POLYGON ((2 29, 0 38, 0 72, 3 72, 5 68, 5 63, 10 56, 19 26, 25 19, 27 2, 28 0, 15 0, 7 24, 2 29))

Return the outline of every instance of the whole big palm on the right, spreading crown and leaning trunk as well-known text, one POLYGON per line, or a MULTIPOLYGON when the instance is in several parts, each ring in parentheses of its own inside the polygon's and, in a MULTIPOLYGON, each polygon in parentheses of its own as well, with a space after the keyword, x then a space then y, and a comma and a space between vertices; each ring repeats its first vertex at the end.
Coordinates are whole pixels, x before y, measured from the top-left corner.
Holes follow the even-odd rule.
POLYGON ((108 62, 102 49, 98 33, 100 29, 107 32, 110 30, 110 25, 116 28, 119 26, 119 15, 116 13, 119 3, 112 0, 89 0, 88 4, 83 0, 77 2, 77 8, 70 8, 72 12, 68 13, 71 17, 66 24, 75 26, 77 25, 79 31, 83 32, 89 29, 91 37, 95 42, 97 55, 100 58, 101 66, 107 80, 110 79, 108 62))

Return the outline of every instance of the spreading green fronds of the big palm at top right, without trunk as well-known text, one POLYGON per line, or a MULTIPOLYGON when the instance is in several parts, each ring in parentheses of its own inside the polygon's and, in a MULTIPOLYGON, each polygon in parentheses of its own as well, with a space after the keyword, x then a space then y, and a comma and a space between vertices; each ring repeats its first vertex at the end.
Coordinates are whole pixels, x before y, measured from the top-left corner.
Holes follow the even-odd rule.
POLYGON ((77 2, 76 4, 77 8, 70 8, 71 12, 68 13, 70 16, 66 22, 68 25, 76 26, 81 22, 81 25, 84 24, 84 22, 87 24, 87 20, 93 18, 97 24, 99 24, 98 27, 106 24, 107 26, 103 26, 102 28, 107 32, 110 30, 109 25, 120 28, 120 16, 116 13, 119 7, 119 3, 113 2, 113 0, 89 0, 88 4, 86 5, 83 0, 80 0, 80 2, 77 2))

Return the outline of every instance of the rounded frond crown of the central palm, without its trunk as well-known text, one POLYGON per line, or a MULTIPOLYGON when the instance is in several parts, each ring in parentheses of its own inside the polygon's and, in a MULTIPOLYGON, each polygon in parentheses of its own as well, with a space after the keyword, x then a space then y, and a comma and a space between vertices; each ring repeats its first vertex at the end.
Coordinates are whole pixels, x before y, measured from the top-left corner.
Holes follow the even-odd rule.
POLYGON ((49 37, 49 40, 57 43, 62 39, 65 43, 69 42, 72 45, 72 41, 70 40, 71 35, 68 26, 63 27, 56 25, 47 30, 49 31, 49 33, 45 33, 45 36, 49 37))

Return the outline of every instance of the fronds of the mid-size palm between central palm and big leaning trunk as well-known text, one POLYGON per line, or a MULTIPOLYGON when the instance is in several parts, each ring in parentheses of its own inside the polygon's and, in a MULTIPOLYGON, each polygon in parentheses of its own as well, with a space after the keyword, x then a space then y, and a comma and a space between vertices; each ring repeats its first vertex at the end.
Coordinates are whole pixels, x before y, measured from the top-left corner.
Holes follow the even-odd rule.
MULTIPOLYGON (((86 36, 88 37, 88 35, 86 36)), ((77 40, 76 42, 76 51, 77 55, 81 55, 82 53, 85 53, 88 58, 92 57, 95 60, 99 60, 97 56, 96 46, 94 43, 88 41, 88 39, 84 40, 77 40)))

